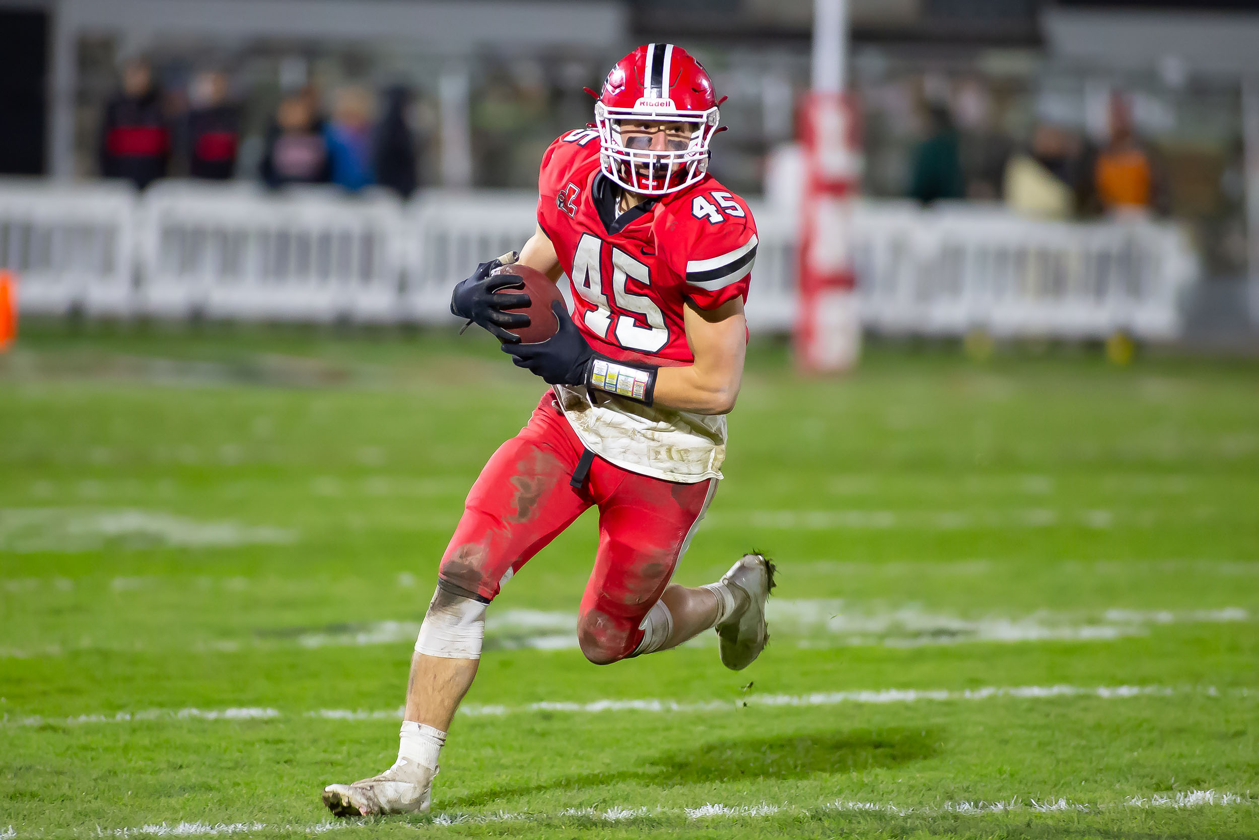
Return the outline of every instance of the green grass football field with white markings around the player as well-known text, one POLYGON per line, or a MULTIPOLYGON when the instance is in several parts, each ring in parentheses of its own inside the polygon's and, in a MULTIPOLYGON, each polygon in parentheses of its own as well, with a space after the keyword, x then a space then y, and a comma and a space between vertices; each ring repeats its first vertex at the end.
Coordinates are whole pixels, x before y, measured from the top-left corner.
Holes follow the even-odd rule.
POLYGON ((540 385, 482 335, 28 329, 0 837, 1259 835, 1259 364, 784 358, 754 346, 676 578, 771 553, 762 659, 587 664, 587 515, 491 607, 433 816, 335 822, 540 385))

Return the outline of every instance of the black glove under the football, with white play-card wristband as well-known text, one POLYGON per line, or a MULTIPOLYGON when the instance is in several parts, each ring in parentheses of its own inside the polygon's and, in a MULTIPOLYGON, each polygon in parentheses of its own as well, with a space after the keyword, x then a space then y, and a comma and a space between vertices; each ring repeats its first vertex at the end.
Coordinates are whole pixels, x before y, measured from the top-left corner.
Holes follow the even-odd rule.
POLYGON ((596 353, 563 302, 551 304, 551 311, 559 320, 555 335, 538 344, 502 345, 502 351, 511 354, 517 368, 533 370, 549 385, 585 385, 652 404, 658 365, 616 361, 596 353))

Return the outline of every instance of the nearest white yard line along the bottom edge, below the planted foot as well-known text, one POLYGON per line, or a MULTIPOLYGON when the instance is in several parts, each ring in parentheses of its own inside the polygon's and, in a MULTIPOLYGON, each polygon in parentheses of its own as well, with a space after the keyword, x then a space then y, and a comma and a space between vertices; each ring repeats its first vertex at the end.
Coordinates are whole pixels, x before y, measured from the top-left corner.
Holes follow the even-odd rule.
MULTIPOLYGON (((862 802, 852 800, 837 800, 825 802, 812 809, 802 809, 793 805, 724 805, 721 802, 705 802, 695 807, 621 807, 608 809, 565 809, 553 814, 546 812, 507 812, 496 814, 462 814, 439 811, 433 815, 433 825, 466 825, 487 822, 553 822, 564 819, 599 820, 604 822, 632 822, 641 819, 684 817, 687 821, 711 820, 747 820, 764 819, 778 814, 791 816, 825 816, 828 812, 857 812, 857 814, 886 814, 890 816, 939 816, 939 815, 968 815, 983 816, 993 814, 1098 814, 1102 811, 1114 812, 1117 810, 1191 810, 1204 807, 1238 807, 1253 806, 1255 800, 1249 793, 1230 793, 1206 791, 1185 791, 1172 796, 1152 793, 1149 796, 1129 796, 1118 803, 1076 802, 1065 797, 1037 800, 1030 796, 1012 797, 1005 801, 957 801, 943 802, 940 805, 895 805, 893 802, 862 802)), ((308 825, 268 825, 266 822, 167 822, 149 824, 125 829, 103 829, 97 826, 94 834, 99 837, 133 837, 133 836, 218 836, 233 834, 252 834, 257 831, 288 831, 293 834, 324 834, 355 826, 371 825, 369 820, 342 820, 322 821, 308 825)), ((18 836, 43 836, 43 831, 21 832, 10 825, 0 831, 0 840, 14 840, 18 836)), ((78 831, 76 831, 78 834, 78 831)))

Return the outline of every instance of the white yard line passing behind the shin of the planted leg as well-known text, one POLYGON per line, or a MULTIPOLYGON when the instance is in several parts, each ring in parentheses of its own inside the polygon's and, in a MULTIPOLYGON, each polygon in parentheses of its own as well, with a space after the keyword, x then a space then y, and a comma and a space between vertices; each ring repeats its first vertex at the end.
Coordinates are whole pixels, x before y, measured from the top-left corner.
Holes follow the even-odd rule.
MULTIPOLYGON (((628 700, 592 700, 573 703, 544 700, 524 705, 465 704, 460 714, 470 717, 501 717, 509 714, 528 714, 536 712, 567 712, 574 714, 599 714, 606 712, 647 712, 655 714, 679 714, 696 712, 734 712, 752 705, 762 707, 826 707, 847 703, 888 704, 923 701, 978 701, 1010 698, 1016 700, 1044 700, 1050 698, 1098 698, 1118 700, 1141 696, 1235 696, 1246 698, 1256 691, 1246 688, 1220 690, 1214 685, 1180 686, 1166 685, 1015 685, 990 686, 981 689, 879 689, 860 691, 815 691, 811 694, 752 694, 738 700, 695 700, 679 701, 660 698, 628 700)), ((402 708, 397 709, 315 709, 305 713, 285 713, 271 708, 230 708, 230 709, 145 709, 142 712, 118 712, 115 714, 81 714, 68 718, 49 718, 43 715, 4 715, 0 725, 39 727, 45 723, 82 725, 104 723, 131 723, 144 720, 269 720, 285 717, 321 718, 326 720, 400 720, 402 708)), ((3 840, 3 839, 0 839, 3 840)))

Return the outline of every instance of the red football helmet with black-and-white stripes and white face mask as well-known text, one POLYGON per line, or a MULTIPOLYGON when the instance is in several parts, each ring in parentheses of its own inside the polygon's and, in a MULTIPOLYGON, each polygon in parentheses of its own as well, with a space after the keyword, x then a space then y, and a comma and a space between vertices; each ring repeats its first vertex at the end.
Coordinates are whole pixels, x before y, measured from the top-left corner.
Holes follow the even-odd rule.
POLYGON ((594 103, 603 174, 646 195, 676 193, 699 181, 708 171, 716 106, 713 79, 690 53, 674 44, 640 47, 612 67, 594 103), (685 149, 631 149, 621 137, 622 120, 684 122, 694 130, 685 149))

